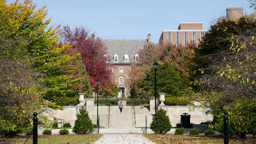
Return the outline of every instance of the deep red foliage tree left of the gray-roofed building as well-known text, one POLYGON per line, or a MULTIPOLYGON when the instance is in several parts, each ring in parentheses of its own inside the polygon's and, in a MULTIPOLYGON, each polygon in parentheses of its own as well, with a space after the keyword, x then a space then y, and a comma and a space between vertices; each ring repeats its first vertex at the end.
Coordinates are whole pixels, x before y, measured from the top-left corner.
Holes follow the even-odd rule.
POLYGON ((111 93, 115 83, 112 73, 107 69, 109 67, 107 62, 110 61, 110 58, 106 55, 107 47, 102 39, 95 38, 94 34, 89 35, 89 32, 84 27, 76 27, 71 30, 69 26, 64 26, 63 41, 65 43, 70 42, 71 48, 81 53, 82 63, 88 73, 91 85, 94 86, 96 79, 99 78, 101 92, 104 93, 107 90, 106 93, 111 93), (104 88, 104 91, 102 88, 104 88))

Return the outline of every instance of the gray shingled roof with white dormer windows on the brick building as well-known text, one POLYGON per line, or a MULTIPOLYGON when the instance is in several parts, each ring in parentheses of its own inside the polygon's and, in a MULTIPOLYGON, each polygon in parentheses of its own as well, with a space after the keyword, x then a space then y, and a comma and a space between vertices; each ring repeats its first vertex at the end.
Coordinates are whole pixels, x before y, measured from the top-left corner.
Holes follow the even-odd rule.
POLYGON ((108 47, 108 56, 111 58, 109 63, 130 63, 134 57, 147 43, 146 39, 104 39, 103 42, 108 47), (114 55, 118 55, 118 62, 114 62, 114 55), (129 62, 124 62, 124 55, 129 55, 129 62))

